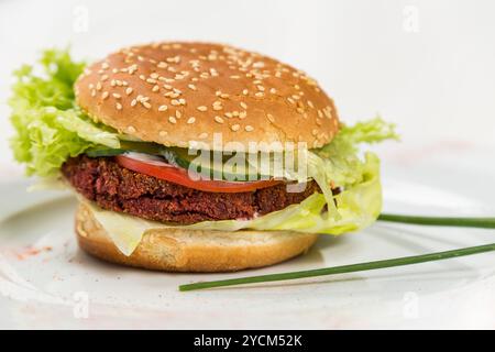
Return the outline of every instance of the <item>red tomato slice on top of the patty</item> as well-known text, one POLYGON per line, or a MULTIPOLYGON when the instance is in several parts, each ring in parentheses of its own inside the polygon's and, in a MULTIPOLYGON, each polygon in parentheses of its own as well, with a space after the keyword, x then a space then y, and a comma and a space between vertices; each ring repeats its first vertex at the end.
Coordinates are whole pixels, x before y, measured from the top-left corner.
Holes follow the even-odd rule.
POLYGON ((189 177, 187 169, 166 163, 146 163, 125 155, 118 155, 116 160, 120 166, 133 172, 202 191, 234 194, 267 188, 282 183, 275 179, 254 182, 195 180, 189 177))

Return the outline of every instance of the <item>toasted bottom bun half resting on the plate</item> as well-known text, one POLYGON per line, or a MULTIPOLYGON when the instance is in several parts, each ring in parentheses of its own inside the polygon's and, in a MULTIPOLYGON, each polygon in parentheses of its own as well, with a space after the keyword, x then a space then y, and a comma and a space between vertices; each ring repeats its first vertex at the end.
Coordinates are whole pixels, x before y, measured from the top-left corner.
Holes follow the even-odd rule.
POLYGON ((318 235, 290 231, 157 229, 131 256, 122 254, 85 205, 76 213, 79 246, 118 264, 164 272, 233 272, 273 265, 306 253, 318 235))

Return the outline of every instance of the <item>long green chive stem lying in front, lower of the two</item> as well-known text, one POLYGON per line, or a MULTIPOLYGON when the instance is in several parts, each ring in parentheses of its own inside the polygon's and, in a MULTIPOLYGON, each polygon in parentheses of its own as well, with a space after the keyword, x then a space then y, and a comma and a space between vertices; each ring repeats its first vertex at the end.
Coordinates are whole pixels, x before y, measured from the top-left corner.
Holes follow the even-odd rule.
POLYGON ((311 270, 311 271, 280 273, 280 274, 251 276, 251 277, 240 277, 240 278, 222 279, 222 280, 216 280, 216 282, 195 283, 195 284, 189 284, 189 285, 182 285, 182 286, 179 286, 179 290, 186 292, 186 290, 205 289, 205 288, 213 288, 213 287, 224 287, 224 286, 267 283, 267 282, 279 282, 279 280, 286 280, 286 279, 298 279, 298 278, 315 277, 315 276, 373 271, 373 270, 377 270, 377 268, 386 268, 386 267, 404 266, 404 265, 419 264, 419 263, 433 262, 433 261, 442 261, 442 260, 465 256, 465 255, 473 255, 473 254, 491 252, 491 251, 495 251, 495 243, 479 245, 479 246, 471 246, 471 248, 447 251, 447 252, 438 252, 438 253, 430 253, 430 254, 422 254, 422 255, 415 255, 415 256, 405 256, 405 257, 392 258, 392 260, 385 260, 385 261, 359 263, 359 264, 352 264, 352 265, 334 266, 334 267, 327 267, 327 268, 319 268, 319 270, 311 270))

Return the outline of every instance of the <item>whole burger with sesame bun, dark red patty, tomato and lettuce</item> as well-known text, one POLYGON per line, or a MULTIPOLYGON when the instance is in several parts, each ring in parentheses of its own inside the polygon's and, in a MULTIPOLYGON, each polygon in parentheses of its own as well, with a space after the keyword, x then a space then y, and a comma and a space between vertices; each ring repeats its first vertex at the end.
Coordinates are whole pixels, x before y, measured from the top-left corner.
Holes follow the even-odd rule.
POLYGON ((50 50, 15 76, 14 156, 75 191, 79 246, 98 258, 261 267, 380 215, 380 161, 360 145, 394 127, 343 124, 316 80, 274 58, 162 42, 92 64, 50 50))

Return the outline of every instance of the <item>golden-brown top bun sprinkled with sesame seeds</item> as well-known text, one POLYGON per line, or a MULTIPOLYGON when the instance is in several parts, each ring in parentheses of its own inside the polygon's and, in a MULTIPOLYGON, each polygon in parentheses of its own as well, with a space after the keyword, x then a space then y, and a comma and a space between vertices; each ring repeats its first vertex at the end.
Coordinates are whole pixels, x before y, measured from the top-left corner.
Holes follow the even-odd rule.
POLYGON ((238 148, 229 142, 243 147, 306 142, 311 148, 329 143, 339 130, 333 101, 314 79, 273 58, 219 44, 127 47, 89 66, 75 91, 96 121, 167 146, 201 142, 213 148, 213 134, 221 133, 227 150, 238 148))

